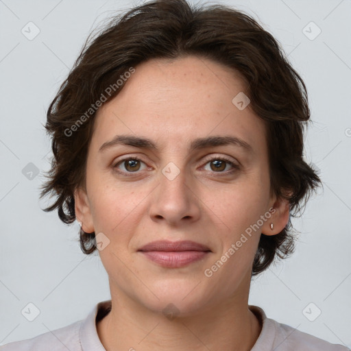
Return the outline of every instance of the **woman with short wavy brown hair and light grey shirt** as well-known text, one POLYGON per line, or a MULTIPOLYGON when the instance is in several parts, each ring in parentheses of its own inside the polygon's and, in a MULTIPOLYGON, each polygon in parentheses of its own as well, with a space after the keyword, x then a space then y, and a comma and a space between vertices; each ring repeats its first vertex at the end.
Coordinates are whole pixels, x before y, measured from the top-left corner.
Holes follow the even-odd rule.
POLYGON ((111 300, 3 350, 347 350, 248 305, 320 184, 306 87, 250 16, 146 3, 84 47, 47 113, 42 196, 80 222, 111 300))

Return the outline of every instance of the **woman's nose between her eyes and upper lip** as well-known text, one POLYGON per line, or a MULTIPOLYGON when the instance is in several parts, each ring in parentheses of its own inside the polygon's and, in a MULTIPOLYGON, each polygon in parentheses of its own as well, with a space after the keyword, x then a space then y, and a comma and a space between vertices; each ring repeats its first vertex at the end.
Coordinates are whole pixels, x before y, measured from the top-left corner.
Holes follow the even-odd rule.
POLYGON ((149 214, 154 221, 166 221, 171 226, 197 221, 201 199, 190 175, 172 163, 160 171, 159 184, 152 195, 149 214))

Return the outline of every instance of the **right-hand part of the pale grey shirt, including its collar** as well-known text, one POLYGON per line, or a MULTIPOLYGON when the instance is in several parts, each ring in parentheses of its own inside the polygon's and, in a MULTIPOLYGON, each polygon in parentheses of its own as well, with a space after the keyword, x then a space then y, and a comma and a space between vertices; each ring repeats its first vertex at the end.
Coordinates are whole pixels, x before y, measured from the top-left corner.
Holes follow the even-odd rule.
POLYGON ((296 328, 267 318, 261 307, 249 306, 261 321, 262 330, 252 351, 350 351, 346 346, 329 343, 296 328))

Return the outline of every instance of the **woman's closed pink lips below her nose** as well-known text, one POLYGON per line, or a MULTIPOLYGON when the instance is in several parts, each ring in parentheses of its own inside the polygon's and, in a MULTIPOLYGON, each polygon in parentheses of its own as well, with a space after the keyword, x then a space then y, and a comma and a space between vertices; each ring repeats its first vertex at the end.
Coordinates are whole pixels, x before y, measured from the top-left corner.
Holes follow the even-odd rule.
POLYGON ((148 243, 138 252, 163 267, 179 268, 201 260, 211 251, 206 245, 194 241, 160 240, 148 243))

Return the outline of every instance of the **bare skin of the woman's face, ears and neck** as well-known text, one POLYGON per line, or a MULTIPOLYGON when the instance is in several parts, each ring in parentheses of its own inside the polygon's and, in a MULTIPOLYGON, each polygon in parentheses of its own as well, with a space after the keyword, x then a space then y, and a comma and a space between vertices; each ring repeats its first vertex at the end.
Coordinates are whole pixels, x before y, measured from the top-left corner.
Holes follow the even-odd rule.
POLYGON ((248 308, 254 254, 261 232, 278 234, 289 220, 288 203, 270 196, 265 125, 250 104, 244 110, 232 104, 245 82, 217 62, 186 56, 135 69, 97 112, 86 189, 75 192, 84 231, 110 240, 99 251, 112 300, 111 312, 97 324, 101 343, 108 351, 251 350, 261 332, 248 308), (117 134, 150 138, 158 149, 114 145, 99 152, 117 134), (214 135, 237 136, 253 152, 236 145, 189 151, 193 139, 214 135), (142 161, 134 172, 128 162, 116 166, 128 156, 142 161), (222 157, 240 168, 226 162, 220 170, 211 167, 212 158, 222 157), (162 173, 169 162, 180 171, 173 180, 162 173), (260 230, 205 276, 272 207, 276 212, 260 230), (192 240, 211 252, 185 267, 162 267, 138 252, 158 239, 192 240), (162 313, 170 303, 178 311, 173 319, 162 313))

